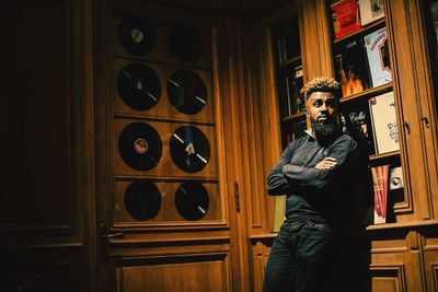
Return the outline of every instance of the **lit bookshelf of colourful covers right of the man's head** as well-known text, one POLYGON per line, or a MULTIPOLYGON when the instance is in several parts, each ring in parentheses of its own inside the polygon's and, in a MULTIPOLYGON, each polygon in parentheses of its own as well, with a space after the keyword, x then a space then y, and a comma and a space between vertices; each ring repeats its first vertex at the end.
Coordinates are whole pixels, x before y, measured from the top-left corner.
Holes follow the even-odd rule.
POLYGON ((402 167, 397 104, 393 94, 384 10, 383 7, 376 7, 379 13, 368 13, 370 8, 366 5, 369 3, 362 0, 327 2, 332 58, 334 75, 343 89, 343 129, 358 142, 362 160, 368 165, 367 177, 364 178, 368 183, 364 191, 373 201, 374 214, 366 221, 373 224, 396 223, 394 213, 400 209, 397 205, 405 201, 403 188, 389 189, 393 179, 391 174, 394 170, 399 174, 402 167), (379 210, 382 198, 374 190, 380 187, 384 189, 381 194, 387 205, 384 210, 379 210), (383 218, 376 213, 381 211, 383 218))

